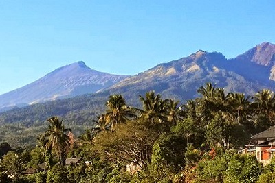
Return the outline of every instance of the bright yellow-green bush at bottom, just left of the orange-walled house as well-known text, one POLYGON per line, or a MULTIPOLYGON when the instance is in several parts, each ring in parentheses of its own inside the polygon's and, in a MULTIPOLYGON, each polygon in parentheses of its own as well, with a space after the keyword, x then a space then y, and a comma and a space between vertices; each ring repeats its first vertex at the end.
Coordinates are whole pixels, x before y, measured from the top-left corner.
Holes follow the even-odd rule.
POLYGON ((227 151, 213 159, 201 160, 195 182, 257 182, 262 169, 255 156, 227 151))

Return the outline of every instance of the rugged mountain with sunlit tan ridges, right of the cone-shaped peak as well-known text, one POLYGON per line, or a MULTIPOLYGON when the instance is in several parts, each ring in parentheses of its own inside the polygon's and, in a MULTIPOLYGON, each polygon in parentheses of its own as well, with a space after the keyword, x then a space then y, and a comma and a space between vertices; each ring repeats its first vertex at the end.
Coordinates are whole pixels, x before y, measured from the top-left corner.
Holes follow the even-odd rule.
MULTIPOLYGON (((122 93, 126 98, 155 90, 163 97, 186 101, 197 97, 197 89, 212 82, 226 92, 254 95, 262 88, 275 90, 275 45, 261 45, 226 59, 222 53, 199 50, 186 58, 159 64, 148 71, 107 88, 109 93, 122 93)), ((136 102, 136 101, 135 101, 136 102)))

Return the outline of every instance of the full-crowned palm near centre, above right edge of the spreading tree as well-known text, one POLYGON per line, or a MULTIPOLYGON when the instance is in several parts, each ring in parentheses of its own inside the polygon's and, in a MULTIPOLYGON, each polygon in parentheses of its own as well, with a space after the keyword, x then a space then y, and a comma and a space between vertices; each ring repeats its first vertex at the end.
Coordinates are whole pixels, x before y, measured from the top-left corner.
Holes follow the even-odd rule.
POLYGON ((159 123, 167 121, 167 99, 162 100, 159 94, 155 95, 155 91, 150 91, 145 94, 145 97, 140 96, 140 101, 143 104, 143 110, 140 110, 140 112, 142 112, 145 119, 151 121, 151 123, 155 123, 155 120, 159 123))

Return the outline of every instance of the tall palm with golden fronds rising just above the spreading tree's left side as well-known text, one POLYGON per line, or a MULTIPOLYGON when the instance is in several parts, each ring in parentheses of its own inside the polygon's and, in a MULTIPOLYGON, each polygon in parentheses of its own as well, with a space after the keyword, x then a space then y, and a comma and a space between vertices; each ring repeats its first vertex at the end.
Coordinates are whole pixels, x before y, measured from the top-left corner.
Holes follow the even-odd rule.
POLYGON ((104 118, 105 121, 104 126, 110 126, 111 130, 113 130, 114 125, 126 123, 129 119, 135 119, 137 117, 135 112, 133 112, 129 106, 126 106, 126 101, 122 95, 111 95, 106 106, 107 112, 102 115, 102 118, 104 118))

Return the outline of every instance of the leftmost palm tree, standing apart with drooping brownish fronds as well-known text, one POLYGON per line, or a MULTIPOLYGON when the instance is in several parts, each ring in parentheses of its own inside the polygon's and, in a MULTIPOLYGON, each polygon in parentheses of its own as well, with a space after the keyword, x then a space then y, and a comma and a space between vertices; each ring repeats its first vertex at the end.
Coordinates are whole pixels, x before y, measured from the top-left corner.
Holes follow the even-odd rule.
POLYGON ((65 129, 62 121, 59 121, 58 117, 51 117, 47 119, 50 122, 48 130, 45 132, 46 144, 45 147, 49 151, 54 149, 59 156, 61 165, 65 165, 66 149, 69 147, 69 136, 65 134, 66 131, 72 131, 71 129, 65 129))

